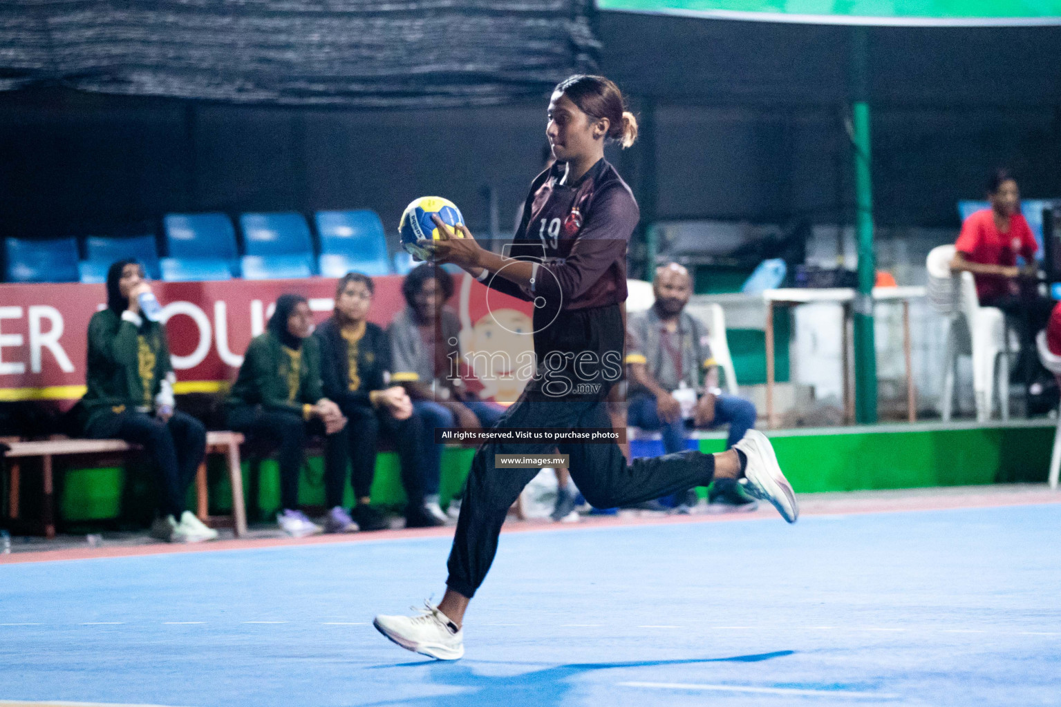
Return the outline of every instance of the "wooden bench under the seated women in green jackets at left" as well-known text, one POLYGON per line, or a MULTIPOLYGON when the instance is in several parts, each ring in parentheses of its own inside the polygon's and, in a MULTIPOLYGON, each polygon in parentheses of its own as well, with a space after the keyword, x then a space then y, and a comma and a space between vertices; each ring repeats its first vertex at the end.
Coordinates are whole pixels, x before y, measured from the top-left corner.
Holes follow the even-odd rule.
MULTIPOLYGON (((243 435, 230 431, 210 431, 206 434, 206 453, 223 454, 227 459, 228 475, 232 483, 232 517, 211 516, 208 513, 208 497, 206 482, 206 459, 199 464, 195 475, 195 514, 208 525, 232 526, 236 535, 247 532, 246 507, 243 500, 243 474, 240 470, 240 444, 243 435)), ((7 469, 11 473, 11 490, 8 493, 7 516, 17 519, 19 516, 19 491, 21 487, 21 470, 18 460, 40 457, 44 465, 44 509, 41 525, 44 534, 55 537, 55 483, 52 458, 70 455, 119 454, 139 449, 135 444, 122 440, 89 440, 89 439, 52 439, 38 442, 6 442, 11 447, 4 454, 7 469)))

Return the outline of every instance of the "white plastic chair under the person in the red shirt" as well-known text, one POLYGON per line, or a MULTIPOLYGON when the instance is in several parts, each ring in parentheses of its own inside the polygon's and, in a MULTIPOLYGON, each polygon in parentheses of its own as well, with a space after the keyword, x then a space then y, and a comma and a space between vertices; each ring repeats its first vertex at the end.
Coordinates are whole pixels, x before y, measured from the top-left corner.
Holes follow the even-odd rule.
POLYGON ((928 253, 928 301, 947 318, 940 413, 951 420, 954 378, 958 356, 973 359, 973 392, 976 420, 986 422, 994 411, 997 381, 1003 420, 1009 420, 1009 347, 1006 318, 997 307, 980 306, 972 272, 952 272, 953 245, 938 246, 928 253))

